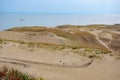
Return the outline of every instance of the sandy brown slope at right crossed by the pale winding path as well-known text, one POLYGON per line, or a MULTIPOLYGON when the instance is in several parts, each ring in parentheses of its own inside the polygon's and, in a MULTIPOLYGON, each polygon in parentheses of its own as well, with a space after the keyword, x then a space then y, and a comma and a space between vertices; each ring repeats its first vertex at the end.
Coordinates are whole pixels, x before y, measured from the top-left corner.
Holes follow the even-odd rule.
POLYGON ((109 51, 120 52, 120 46, 118 45, 120 43, 119 31, 110 30, 109 27, 108 30, 85 27, 79 30, 95 35, 97 41, 99 41, 99 43, 106 47, 109 51))

